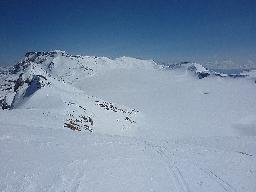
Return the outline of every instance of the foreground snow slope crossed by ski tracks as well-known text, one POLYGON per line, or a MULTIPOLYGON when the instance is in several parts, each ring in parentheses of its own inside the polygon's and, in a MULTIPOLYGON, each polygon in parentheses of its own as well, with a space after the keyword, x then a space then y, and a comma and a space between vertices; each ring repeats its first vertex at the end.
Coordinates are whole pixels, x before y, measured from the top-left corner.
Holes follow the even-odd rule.
POLYGON ((149 140, 4 123, 0 190, 253 191, 255 144, 255 137, 149 140))

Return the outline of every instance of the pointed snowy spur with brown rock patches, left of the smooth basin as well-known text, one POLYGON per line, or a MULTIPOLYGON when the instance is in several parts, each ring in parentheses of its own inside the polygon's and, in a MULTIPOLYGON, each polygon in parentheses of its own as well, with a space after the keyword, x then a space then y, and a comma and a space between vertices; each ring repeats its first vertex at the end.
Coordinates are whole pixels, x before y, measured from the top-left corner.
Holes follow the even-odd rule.
POLYGON ((58 121, 51 127, 63 129, 111 134, 124 134, 122 132, 137 129, 135 116, 139 111, 87 96, 83 91, 50 76, 33 62, 21 77, 32 77, 32 80, 17 89, 10 109, 32 109, 39 113, 43 110, 43 114, 58 121))

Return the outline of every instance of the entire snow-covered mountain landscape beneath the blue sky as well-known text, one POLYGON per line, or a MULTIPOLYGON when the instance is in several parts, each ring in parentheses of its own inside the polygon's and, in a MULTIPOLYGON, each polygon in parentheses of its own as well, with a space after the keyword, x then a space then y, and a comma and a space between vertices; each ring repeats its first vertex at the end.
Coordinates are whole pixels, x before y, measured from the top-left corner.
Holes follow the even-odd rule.
POLYGON ((0 76, 0 191, 256 191, 255 81, 28 52, 0 76))

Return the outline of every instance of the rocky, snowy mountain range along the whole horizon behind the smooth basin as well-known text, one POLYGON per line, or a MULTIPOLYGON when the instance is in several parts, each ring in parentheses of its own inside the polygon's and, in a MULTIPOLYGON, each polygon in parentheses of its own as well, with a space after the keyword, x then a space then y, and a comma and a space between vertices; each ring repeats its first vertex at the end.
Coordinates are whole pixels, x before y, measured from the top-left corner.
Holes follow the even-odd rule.
MULTIPOLYGON (((204 78, 209 75, 228 76, 207 69, 207 67, 211 69, 214 66, 224 68, 214 63, 204 63, 203 67, 203 65, 191 62, 167 64, 155 62, 154 60, 141 60, 131 57, 120 57, 111 60, 106 57, 72 56, 61 50, 51 52, 27 52, 25 57, 14 67, 5 66, 1 68, 3 72, 0 74, 0 107, 4 106, 4 108, 9 108, 15 93, 20 89, 24 89, 24 84, 26 86, 31 84, 36 76, 41 79, 38 80, 37 78, 38 84, 40 81, 45 80, 48 81, 48 83, 40 84, 52 84, 61 89, 66 87, 64 83, 67 85, 76 84, 84 78, 102 75, 107 71, 118 68, 143 70, 161 70, 166 68, 166 70, 168 70, 182 67, 184 68, 183 70, 195 71, 195 75, 198 76, 198 78, 204 78), (58 81, 63 81, 63 83, 56 84, 56 80, 54 80, 55 83, 53 83, 52 81, 49 82, 49 79, 58 79, 58 81), (8 97, 5 97, 7 94, 8 97)), ((230 66, 230 64, 227 64, 226 68, 230 66)), ((244 65, 244 69, 253 68, 254 66, 252 62, 248 61, 247 64, 244 65)), ((254 78, 254 73, 248 72, 235 75, 234 77, 246 76, 248 78, 254 78)), ((35 79, 33 81, 35 81, 35 79)), ((15 102, 13 102, 13 104, 14 103, 15 102)))

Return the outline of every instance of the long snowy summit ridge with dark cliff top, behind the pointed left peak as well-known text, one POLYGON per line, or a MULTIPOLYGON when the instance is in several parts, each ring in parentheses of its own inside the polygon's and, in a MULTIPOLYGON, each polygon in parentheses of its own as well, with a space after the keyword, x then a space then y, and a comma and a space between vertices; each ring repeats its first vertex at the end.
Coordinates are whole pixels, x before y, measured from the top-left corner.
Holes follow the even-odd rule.
POLYGON ((139 60, 131 57, 111 60, 107 57, 72 56, 65 51, 55 50, 51 52, 27 52, 25 57, 14 66, 12 73, 17 73, 21 67, 26 68, 30 61, 37 63, 40 68, 52 76, 69 83, 88 76, 98 76, 116 68, 161 68, 153 60, 139 60))

